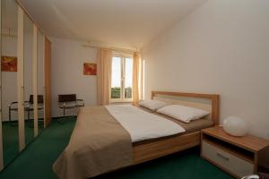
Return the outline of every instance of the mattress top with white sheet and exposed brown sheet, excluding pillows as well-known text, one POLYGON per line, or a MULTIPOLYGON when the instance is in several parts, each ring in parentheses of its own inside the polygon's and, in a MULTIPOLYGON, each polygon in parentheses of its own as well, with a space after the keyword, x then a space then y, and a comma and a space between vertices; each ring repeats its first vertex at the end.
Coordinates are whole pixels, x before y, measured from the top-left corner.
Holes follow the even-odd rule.
POLYGON ((213 121, 206 117, 187 124, 167 115, 152 112, 145 107, 134 107, 130 104, 110 105, 106 106, 106 108, 108 113, 129 132, 133 144, 142 143, 143 141, 158 141, 175 135, 197 132, 213 126, 213 121), (143 111, 144 114, 139 114, 138 110, 143 111), (154 121, 155 119, 156 121, 154 121))

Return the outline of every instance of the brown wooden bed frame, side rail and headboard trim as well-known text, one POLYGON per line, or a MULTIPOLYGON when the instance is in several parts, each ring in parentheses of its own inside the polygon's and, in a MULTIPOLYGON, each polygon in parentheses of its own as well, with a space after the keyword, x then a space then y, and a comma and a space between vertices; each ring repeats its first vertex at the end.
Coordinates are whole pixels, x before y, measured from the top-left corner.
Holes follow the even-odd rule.
MULTIPOLYGON (((215 94, 197 94, 168 91, 152 91, 152 99, 158 95, 183 98, 204 98, 211 101, 211 119, 213 124, 219 124, 220 97, 215 94)), ((140 164, 154 158, 161 158, 169 154, 199 146, 201 143, 201 132, 190 132, 183 135, 175 135, 157 141, 133 144, 134 165, 140 164)))

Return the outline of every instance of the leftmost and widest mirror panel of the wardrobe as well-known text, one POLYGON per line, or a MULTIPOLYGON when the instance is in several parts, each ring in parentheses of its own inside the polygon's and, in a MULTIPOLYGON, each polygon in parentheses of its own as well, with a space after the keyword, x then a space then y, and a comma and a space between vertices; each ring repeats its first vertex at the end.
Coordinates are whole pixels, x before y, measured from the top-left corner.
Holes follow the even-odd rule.
POLYGON ((19 153, 17 110, 18 5, 2 0, 2 124, 4 166, 19 153))

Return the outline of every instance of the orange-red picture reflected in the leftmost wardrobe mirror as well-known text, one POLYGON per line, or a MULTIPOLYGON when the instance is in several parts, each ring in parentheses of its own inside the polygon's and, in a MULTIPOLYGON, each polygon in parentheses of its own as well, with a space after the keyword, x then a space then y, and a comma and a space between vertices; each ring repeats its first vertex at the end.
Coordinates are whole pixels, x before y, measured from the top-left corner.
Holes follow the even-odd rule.
POLYGON ((17 57, 16 56, 2 56, 1 57, 1 71, 2 72, 17 72, 17 57))

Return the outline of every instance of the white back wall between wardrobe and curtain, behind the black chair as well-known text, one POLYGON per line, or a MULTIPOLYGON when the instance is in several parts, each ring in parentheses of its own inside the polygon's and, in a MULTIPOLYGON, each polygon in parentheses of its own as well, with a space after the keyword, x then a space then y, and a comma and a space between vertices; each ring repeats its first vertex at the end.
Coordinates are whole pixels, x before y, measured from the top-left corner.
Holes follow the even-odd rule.
MULTIPOLYGON (((58 94, 76 94, 85 106, 96 105, 96 76, 83 75, 83 63, 96 62, 96 50, 82 47, 85 42, 50 38, 52 43, 51 87, 52 116, 61 116, 57 107, 58 94)), ((66 115, 75 115, 69 111, 66 115)))

